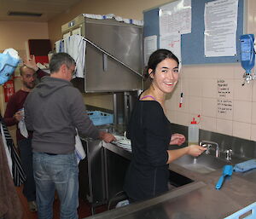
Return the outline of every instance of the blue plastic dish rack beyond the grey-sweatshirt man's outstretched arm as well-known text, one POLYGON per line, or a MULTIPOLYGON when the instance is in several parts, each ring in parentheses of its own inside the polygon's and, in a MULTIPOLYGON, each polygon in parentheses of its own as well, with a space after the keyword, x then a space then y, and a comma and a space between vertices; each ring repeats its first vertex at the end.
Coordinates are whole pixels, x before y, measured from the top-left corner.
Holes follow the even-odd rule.
POLYGON ((102 111, 88 111, 88 116, 94 125, 113 124, 113 114, 102 111))

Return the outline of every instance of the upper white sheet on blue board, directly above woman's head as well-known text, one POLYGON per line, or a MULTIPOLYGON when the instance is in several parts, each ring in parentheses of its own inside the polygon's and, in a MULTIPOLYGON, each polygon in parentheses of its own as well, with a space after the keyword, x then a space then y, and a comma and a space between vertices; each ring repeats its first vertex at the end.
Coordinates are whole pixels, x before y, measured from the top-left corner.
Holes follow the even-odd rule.
POLYGON ((191 0, 179 0, 160 7, 160 35, 191 32, 191 0))

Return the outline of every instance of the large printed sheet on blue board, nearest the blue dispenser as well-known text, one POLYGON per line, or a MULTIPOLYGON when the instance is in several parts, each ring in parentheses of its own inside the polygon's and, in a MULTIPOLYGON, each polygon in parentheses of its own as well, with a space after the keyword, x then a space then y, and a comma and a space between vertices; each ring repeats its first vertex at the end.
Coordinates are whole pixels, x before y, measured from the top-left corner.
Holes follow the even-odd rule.
POLYGON ((235 56, 238 0, 205 4, 205 55, 235 56))

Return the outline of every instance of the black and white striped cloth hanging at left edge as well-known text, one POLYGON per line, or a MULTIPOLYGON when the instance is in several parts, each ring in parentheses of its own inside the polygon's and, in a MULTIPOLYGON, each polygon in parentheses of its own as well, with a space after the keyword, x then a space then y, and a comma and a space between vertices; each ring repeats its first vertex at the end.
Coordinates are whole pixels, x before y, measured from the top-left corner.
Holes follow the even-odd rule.
POLYGON ((14 178, 15 186, 20 187, 20 185, 26 181, 26 175, 21 166, 20 157, 15 150, 14 141, 12 140, 11 135, 9 135, 9 130, 7 129, 6 125, 3 123, 2 116, 0 116, 0 122, 3 127, 3 132, 1 131, 1 133, 4 135, 7 147, 9 148, 9 153, 12 158, 12 175, 14 178))

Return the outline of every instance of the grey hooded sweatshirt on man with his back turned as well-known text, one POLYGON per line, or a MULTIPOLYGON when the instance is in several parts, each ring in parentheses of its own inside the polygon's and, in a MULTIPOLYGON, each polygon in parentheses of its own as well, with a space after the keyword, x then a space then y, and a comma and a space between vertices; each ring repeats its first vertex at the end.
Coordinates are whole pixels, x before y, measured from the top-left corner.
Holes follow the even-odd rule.
POLYGON ((26 129, 33 131, 33 152, 73 153, 75 135, 96 139, 99 130, 86 114, 79 89, 60 78, 44 77, 25 101, 26 129))

